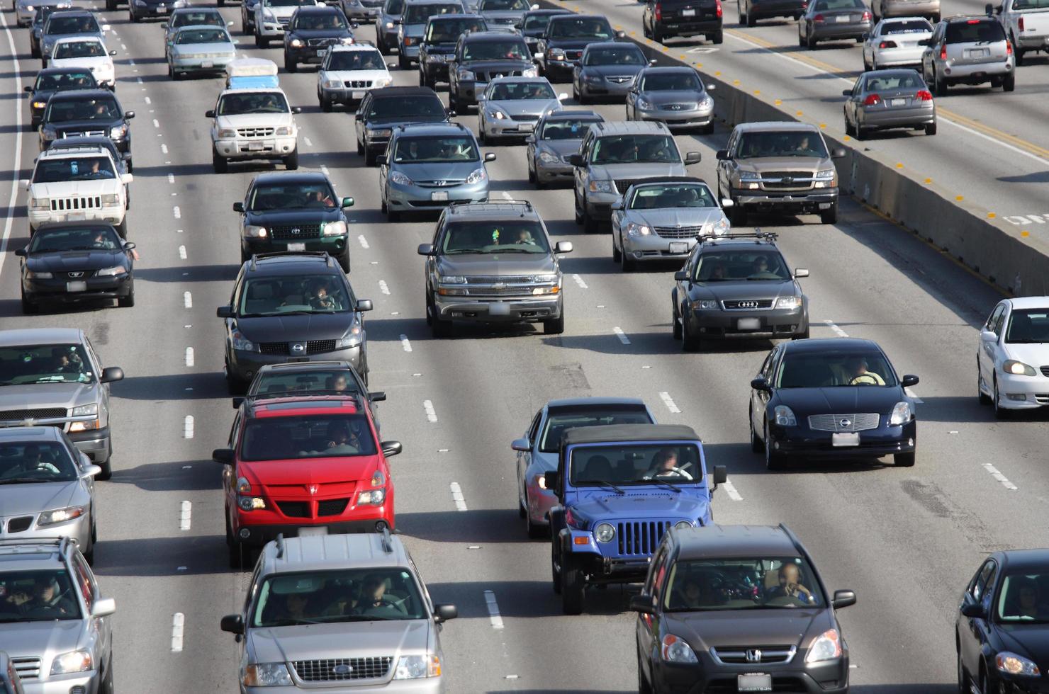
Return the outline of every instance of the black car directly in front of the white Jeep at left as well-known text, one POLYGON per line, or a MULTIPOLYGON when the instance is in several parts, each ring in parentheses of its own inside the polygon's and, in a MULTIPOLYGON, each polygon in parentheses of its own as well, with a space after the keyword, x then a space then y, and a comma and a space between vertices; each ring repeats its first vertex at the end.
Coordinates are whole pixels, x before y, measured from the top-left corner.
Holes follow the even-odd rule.
POLYGON ((134 306, 134 243, 112 224, 61 222, 37 227, 22 258, 22 312, 36 313, 45 301, 115 299, 134 306))

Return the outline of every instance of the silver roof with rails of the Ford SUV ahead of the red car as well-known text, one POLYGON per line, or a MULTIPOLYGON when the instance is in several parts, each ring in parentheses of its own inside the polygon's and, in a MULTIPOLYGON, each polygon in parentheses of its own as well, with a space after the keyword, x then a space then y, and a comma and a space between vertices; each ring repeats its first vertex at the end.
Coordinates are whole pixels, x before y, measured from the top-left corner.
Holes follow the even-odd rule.
POLYGON ((380 533, 316 535, 266 543, 262 574, 334 568, 410 566, 408 551, 397 536, 380 533))

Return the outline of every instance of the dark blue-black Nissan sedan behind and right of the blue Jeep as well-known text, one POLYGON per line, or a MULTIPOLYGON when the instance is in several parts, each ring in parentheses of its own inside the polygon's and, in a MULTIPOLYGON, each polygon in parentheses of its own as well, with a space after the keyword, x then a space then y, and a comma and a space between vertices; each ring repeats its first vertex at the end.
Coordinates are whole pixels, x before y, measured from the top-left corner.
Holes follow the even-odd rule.
POLYGON ((918 376, 897 376, 876 343, 853 338, 776 345, 750 382, 750 444, 769 470, 788 458, 879 458, 915 464, 918 421, 906 392, 918 376))

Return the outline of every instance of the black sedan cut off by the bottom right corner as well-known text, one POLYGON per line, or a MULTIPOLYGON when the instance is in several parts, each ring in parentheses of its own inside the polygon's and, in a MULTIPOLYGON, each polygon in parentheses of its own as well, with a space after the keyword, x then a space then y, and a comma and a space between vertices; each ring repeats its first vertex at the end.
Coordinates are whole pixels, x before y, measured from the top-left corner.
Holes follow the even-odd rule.
POLYGON ((1049 549, 987 557, 962 594, 955 629, 959 691, 1047 691, 1049 549))

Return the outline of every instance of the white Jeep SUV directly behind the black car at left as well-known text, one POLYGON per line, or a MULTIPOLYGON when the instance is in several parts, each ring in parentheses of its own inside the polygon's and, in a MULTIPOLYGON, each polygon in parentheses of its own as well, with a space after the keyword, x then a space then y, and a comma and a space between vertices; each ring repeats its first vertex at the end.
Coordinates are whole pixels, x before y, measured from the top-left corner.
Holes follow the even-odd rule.
POLYGON ((45 150, 37 158, 29 192, 29 233, 47 222, 107 221, 127 238, 127 185, 105 147, 45 150))

